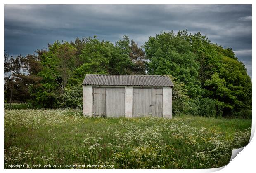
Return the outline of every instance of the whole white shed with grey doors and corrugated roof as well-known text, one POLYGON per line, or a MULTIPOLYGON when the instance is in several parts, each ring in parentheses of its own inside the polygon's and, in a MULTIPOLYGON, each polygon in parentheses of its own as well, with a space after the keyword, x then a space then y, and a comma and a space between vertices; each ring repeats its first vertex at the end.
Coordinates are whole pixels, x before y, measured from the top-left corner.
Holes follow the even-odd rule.
POLYGON ((86 75, 83 115, 171 118, 172 88, 168 76, 86 75))

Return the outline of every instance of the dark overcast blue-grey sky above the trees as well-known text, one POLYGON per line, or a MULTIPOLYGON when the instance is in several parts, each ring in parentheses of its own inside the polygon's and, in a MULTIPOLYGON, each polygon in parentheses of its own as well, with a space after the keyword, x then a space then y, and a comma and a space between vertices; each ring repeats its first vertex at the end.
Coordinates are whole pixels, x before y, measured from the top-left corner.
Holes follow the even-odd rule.
POLYGON ((188 29, 231 47, 251 76, 251 5, 5 5, 5 51, 33 54, 55 40, 123 35, 144 44, 161 31, 188 29))

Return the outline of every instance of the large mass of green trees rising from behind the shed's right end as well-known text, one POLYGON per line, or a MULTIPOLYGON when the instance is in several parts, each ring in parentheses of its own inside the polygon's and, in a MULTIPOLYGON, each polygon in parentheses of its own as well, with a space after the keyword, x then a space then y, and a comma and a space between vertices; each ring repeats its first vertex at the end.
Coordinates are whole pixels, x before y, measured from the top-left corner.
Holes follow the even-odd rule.
POLYGON ((172 75, 185 84, 189 99, 183 112, 232 117, 251 110, 251 78, 232 49, 211 44, 206 35, 188 34, 187 30, 149 37, 144 47, 150 75, 172 75), (208 111, 200 108, 204 104, 210 104, 208 111))

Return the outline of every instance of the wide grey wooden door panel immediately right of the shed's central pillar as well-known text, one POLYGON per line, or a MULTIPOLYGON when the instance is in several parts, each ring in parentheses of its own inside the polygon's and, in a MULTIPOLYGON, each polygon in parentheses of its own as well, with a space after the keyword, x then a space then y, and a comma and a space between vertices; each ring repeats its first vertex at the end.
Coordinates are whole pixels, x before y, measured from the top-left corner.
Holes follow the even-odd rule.
POLYGON ((133 88, 133 117, 151 114, 151 88, 133 88))

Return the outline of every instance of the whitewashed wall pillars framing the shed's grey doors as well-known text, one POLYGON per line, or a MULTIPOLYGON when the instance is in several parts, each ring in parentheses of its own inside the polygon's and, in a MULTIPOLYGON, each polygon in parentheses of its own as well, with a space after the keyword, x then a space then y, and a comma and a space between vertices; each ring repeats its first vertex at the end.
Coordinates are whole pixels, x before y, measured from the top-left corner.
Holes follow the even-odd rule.
MULTIPOLYGON (((93 85, 99 87, 97 85, 93 85)), ((92 85, 83 86, 83 115, 92 116, 92 85)), ((100 86, 100 87, 122 87, 122 86, 100 86)), ((133 87, 138 86, 124 86, 125 87, 125 117, 133 117, 133 87)), ((144 86, 147 87, 147 86, 144 86)), ((152 86, 149 86, 152 88, 152 86)), ((172 88, 163 86, 163 117, 172 117, 172 88)))

